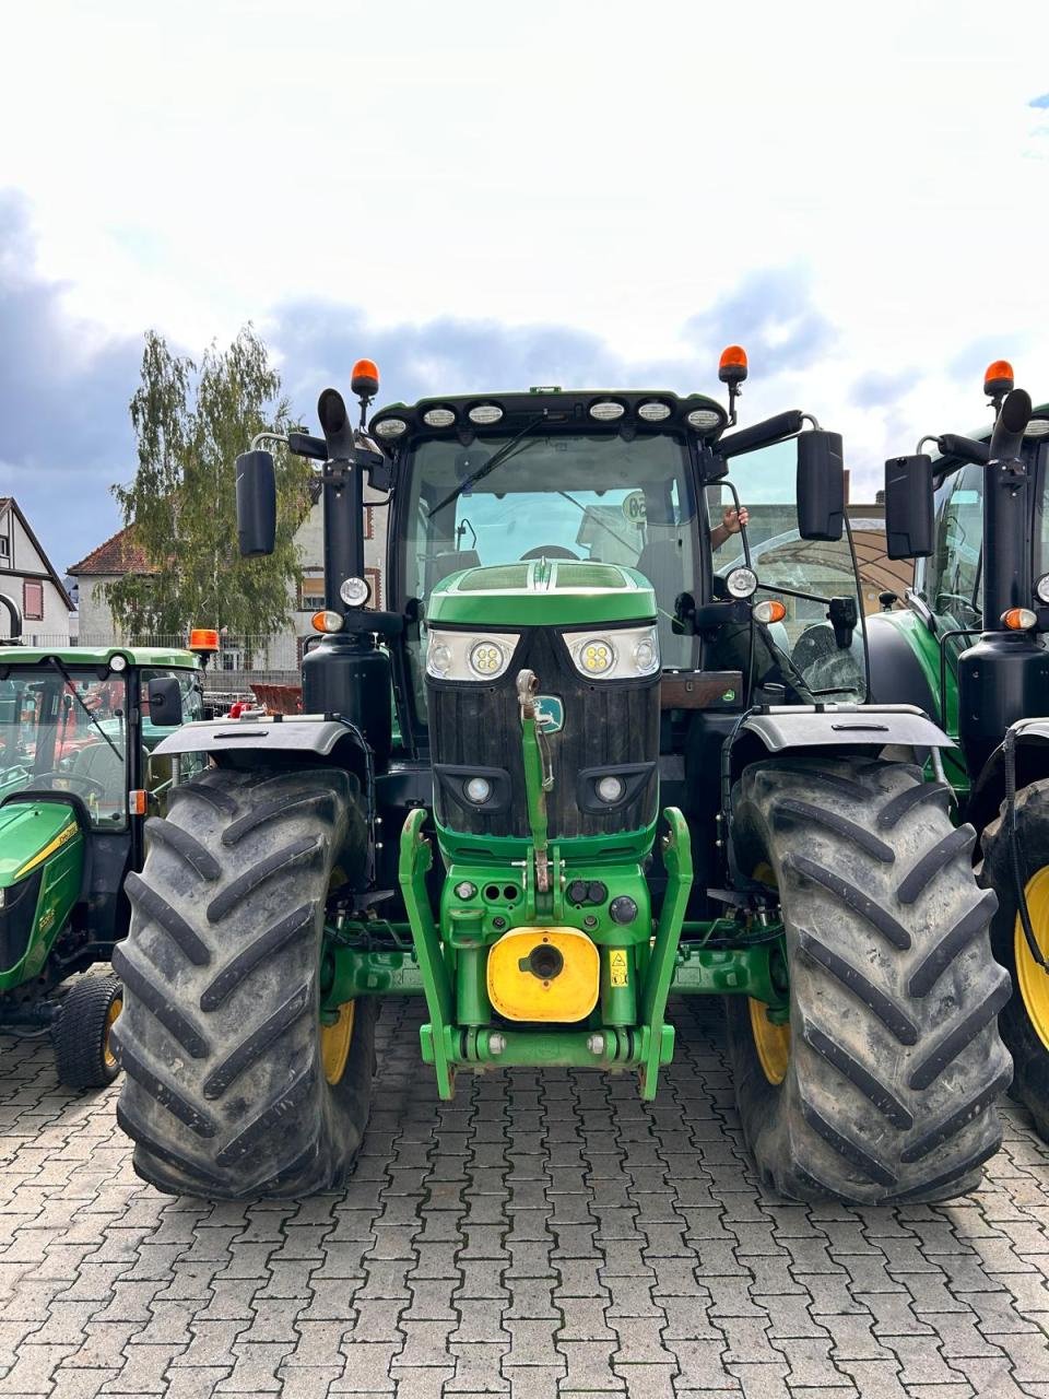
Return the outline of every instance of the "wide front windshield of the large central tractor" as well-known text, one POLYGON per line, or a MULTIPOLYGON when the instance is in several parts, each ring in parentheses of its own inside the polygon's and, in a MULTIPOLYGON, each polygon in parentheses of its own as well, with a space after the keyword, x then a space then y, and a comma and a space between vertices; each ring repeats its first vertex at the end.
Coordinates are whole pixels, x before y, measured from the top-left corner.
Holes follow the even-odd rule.
MULTIPOLYGON (((625 564, 656 589, 663 666, 691 666, 694 641, 670 627, 678 593, 695 578, 697 509, 684 443, 669 435, 627 442, 618 434, 537 431, 448 499, 508 442, 485 436, 470 448, 446 441, 415 448, 404 596, 425 599, 449 574, 478 564, 541 555, 625 564)), ((418 644, 410 652, 418 687, 418 644)))

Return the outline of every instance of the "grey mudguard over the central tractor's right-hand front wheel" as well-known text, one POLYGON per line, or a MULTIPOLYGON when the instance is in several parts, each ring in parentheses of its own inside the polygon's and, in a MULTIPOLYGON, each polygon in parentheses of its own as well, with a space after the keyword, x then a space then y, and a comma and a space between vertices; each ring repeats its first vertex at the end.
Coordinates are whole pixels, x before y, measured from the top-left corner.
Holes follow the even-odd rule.
POLYGON ((952 748, 943 729, 916 705, 771 705, 748 715, 743 727, 769 753, 785 748, 877 747, 952 748))

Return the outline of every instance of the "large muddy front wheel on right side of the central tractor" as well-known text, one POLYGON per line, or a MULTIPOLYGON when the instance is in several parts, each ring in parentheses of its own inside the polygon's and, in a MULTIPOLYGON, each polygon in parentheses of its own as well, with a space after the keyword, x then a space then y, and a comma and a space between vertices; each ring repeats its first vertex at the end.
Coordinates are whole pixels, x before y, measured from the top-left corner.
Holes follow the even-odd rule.
POLYGON ((733 842, 785 925, 790 1023, 727 997, 743 1129, 799 1200, 945 1200, 999 1147, 1008 977, 943 788, 916 768, 780 758, 747 768, 733 842))

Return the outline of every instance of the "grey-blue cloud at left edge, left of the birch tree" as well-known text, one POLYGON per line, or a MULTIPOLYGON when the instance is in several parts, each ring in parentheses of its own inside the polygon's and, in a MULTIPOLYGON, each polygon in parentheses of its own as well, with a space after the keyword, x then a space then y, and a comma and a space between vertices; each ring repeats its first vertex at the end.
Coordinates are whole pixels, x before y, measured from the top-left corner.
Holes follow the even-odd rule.
POLYGON ((119 526, 110 481, 134 466, 127 403, 141 343, 64 309, 34 266, 25 201, 0 192, 0 491, 63 572, 119 526))

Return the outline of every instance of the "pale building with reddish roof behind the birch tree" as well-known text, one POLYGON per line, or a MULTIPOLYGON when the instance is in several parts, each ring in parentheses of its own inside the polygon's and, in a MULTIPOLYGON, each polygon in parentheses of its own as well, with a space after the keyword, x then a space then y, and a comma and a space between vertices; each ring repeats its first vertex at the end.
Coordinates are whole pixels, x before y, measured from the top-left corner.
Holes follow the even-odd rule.
MULTIPOLYGON (((365 487, 365 501, 385 499, 365 487)), ((298 679, 302 645, 316 635, 311 617, 324 606, 324 529, 323 509, 315 505, 302 522, 295 543, 302 565, 302 585, 290 590, 291 621, 276 637, 224 637, 222 649, 213 663, 213 681, 221 688, 239 690, 245 677, 295 681, 298 679)), ((372 607, 385 606, 383 560, 386 554, 386 511, 382 505, 365 506, 365 575, 372 585, 372 607)), ((151 567, 134 541, 133 527, 117 530, 92 550, 87 558, 73 564, 70 578, 80 592, 80 644, 83 646, 112 646, 127 641, 157 641, 179 644, 180 637, 131 638, 120 632, 106 602, 106 585, 126 574, 148 574, 151 567)), ((208 618, 192 618, 207 625, 208 618)), ((189 624, 190 618, 187 618, 189 624)))

